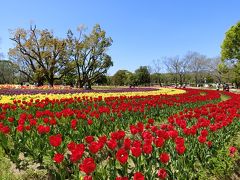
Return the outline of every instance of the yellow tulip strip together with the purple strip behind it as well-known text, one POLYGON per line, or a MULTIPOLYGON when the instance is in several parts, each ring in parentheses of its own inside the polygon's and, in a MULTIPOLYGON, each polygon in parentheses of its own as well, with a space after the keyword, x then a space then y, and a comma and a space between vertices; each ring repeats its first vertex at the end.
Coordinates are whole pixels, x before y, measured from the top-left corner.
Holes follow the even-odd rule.
POLYGON ((0 103, 12 103, 15 101, 34 101, 35 99, 42 100, 48 99, 63 99, 63 98, 78 98, 78 97, 92 97, 98 98, 99 96, 110 97, 110 96, 148 96, 148 95, 159 95, 159 94, 181 94, 185 93, 181 89, 171 88, 122 88, 112 90, 39 90, 39 89, 0 89, 0 103))

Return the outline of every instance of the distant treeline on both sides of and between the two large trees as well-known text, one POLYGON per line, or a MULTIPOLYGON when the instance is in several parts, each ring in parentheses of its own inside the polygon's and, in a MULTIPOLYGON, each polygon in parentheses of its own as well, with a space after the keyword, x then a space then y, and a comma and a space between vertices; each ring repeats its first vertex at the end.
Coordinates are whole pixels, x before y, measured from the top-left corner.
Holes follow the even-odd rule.
MULTIPOLYGON (((221 66, 220 58, 207 58, 196 52, 189 52, 186 57, 168 57, 153 60, 149 66, 140 66, 135 72, 118 70, 113 76, 101 74, 93 82, 93 85, 115 86, 169 86, 191 85, 202 86, 205 83, 234 83, 233 74, 221 72, 217 67, 221 66)), ((76 75, 64 76, 55 80, 55 84, 76 86, 76 75)), ((29 82, 31 78, 19 71, 18 64, 12 61, 0 61, 0 83, 20 84, 29 82)))

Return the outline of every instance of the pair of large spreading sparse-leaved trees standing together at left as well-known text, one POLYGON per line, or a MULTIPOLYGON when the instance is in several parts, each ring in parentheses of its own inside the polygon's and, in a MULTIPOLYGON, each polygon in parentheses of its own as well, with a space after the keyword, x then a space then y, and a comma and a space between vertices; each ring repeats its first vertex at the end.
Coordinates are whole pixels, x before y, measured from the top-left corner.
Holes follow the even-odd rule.
POLYGON ((74 37, 68 31, 67 38, 59 39, 48 29, 17 29, 12 32, 11 40, 15 47, 9 56, 18 63, 20 72, 32 82, 43 85, 45 81, 53 86, 56 80, 80 87, 91 87, 100 76, 105 75, 113 66, 107 54, 112 39, 97 24, 89 35, 74 37))

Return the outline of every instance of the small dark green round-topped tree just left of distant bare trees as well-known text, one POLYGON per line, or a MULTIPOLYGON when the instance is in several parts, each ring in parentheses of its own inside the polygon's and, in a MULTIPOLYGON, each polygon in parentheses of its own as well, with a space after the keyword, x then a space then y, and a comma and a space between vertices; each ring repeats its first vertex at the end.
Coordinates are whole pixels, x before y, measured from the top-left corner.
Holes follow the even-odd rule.
POLYGON ((138 85, 149 85, 150 84, 150 73, 147 66, 140 66, 135 71, 137 84, 138 85))

